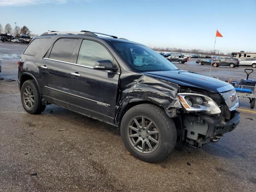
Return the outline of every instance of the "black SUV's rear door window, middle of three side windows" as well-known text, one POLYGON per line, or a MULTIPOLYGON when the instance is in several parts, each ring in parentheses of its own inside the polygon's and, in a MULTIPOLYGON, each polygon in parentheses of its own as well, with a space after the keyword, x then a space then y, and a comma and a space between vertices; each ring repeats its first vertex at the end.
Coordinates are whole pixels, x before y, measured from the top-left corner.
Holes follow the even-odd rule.
POLYGON ((71 62, 72 54, 78 39, 61 38, 57 40, 50 53, 49 58, 59 61, 71 62))

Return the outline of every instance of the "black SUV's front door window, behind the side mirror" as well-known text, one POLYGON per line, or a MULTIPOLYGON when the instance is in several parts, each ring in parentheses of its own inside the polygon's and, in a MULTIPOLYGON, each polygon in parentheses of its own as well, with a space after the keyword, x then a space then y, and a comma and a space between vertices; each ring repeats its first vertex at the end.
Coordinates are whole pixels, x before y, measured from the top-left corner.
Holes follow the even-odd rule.
POLYGON ((94 67, 97 61, 110 60, 114 62, 113 57, 101 44, 91 41, 83 40, 77 58, 77 64, 94 67))

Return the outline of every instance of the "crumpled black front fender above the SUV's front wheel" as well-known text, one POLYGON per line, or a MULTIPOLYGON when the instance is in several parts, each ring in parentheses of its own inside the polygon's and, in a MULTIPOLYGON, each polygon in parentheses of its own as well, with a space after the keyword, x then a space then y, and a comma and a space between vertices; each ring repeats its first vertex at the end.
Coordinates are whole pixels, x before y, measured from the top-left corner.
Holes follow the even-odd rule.
POLYGON ((176 116, 176 110, 182 106, 178 100, 180 87, 177 84, 123 70, 120 76, 120 87, 116 123, 120 123, 122 115, 131 103, 148 102, 156 104, 166 111, 168 116, 176 116))

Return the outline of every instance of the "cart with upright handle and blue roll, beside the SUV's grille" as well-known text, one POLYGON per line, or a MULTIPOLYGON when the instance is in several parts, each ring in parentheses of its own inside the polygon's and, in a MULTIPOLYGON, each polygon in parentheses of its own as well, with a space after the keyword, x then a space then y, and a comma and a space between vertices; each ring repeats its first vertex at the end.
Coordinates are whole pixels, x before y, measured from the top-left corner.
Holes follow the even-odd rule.
MULTIPOLYGON (((248 80, 249 75, 253 72, 253 69, 245 69, 244 71, 247 74, 246 80, 248 80), (247 72, 248 70, 250 70, 251 72, 248 73, 247 72)), ((250 99, 250 104, 251 104, 250 108, 253 109, 256 101, 256 86, 255 84, 254 86, 244 85, 244 82, 246 82, 246 80, 241 80, 239 84, 234 84, 233 86, 236 88, 236 93, 238 97, 247 97, 250 99), (243 90, 247 90, 247 92, 243 92, 243 90), (251 90, 251 91, 248 92, 248 90, 251 90)))

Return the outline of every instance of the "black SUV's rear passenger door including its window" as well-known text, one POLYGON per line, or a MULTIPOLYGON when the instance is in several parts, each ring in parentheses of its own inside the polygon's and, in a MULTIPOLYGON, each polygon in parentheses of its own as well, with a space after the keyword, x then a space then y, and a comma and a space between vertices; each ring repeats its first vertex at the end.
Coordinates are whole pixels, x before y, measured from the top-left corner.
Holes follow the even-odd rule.
POLYGON ((60 38, 42 59, 40 72, 44 98, 49 102, 70 108, 70 64, 78 39, 60 38))

